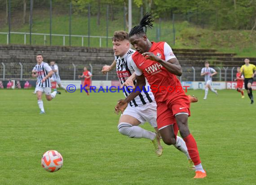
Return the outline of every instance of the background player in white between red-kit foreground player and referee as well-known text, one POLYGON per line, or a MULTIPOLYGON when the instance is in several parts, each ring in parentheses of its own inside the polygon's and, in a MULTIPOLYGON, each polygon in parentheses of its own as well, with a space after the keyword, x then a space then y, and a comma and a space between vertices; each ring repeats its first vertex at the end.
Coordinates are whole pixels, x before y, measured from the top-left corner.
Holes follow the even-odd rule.
POLYGON ((204 81, 205 81, 205 93, 204 93, 204 100, 207 99, 207 95, 208 95, 208 90, 210 89, 213 93, 215 93, 216 95, 218 95, 217 91, 214 90, 211 86, 212 86, 212 76, 216 75, 217 72, 215 69, 213 69, 212 67, 209 67, 209 62, 206 61, 204 62, 204 66, 201 70, 201 76, 204 76, 204 81))

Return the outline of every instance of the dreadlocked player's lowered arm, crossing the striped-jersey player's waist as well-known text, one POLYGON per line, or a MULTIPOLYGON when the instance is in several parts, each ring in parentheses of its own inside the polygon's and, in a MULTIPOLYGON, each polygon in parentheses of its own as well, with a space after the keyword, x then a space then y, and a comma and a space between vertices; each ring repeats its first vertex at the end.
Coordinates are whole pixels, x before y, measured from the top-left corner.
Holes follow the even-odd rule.
POLYGON ((136 75, 137 82, 135 84, 135 89, 132 91, 132 93, 129 94, 128 97, 126 97, 124 100, 119 100, 117 102, 117 105, 115 106, 115 113, 118 115, 121 111, 124 112, 125 108, 127 107, 128 103, 132 101, 135 97, 137 97, 143 90, 143 87, 146 85, 146 79, 144 75, 137 76, 136 75), (140 90, 139 90, 139 89, 140 90))

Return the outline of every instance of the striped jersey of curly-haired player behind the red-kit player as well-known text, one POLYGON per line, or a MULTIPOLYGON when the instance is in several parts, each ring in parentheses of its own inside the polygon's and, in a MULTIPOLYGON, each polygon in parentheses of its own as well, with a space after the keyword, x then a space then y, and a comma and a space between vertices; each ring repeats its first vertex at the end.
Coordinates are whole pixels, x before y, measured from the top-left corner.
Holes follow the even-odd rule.
MULTIPOLYGON (((121 84, 123 84, 126 81, 126 79, 128 79, 132 75, 132 73, 134 73, 134 70, 131 65, 132 54, 134 52, 135 50, 129 49, 129 51, 123 57, 115 56, 116 73, 121 84)), ((133 81, 133 84, 136 84, 136 80, 133 81)), ((131 90, 129 88, 124 87, 124 96, 128 97, 130 93, 131 90)), ((132 107, 142 106, 152 101, 154 101, 154 95, 151 92, 150 85, 146 81, 145 90, 142 93, 140 93, 137 97, 135 97, 132 101, 130 101, 129 105, 132 107)))

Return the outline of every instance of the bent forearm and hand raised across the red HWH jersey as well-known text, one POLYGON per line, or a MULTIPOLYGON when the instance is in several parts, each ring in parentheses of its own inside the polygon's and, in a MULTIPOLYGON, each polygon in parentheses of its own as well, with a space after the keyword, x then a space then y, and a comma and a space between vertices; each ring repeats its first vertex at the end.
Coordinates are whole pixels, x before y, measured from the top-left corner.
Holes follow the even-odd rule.
POLYGON ((150 59, 156 62, 159 62, 162 66, 164 66, 170 73, 181 76, 182 75, 182 69, 179 61, 177 58, 171 58, 168 61, 165 61, 157 56, 154 55, 154 53, 146 52, 142 54, 146 59, 150 59))

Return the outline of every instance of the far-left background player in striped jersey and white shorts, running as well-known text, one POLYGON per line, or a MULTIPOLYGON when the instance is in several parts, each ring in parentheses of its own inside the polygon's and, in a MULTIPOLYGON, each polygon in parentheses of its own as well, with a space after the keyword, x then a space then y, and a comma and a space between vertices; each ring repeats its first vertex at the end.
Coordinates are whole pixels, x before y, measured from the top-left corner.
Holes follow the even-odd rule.
POLYGON ((37 77, 36 82, 36 95, 37 103, 40 108, 40 114, 45 114, 44 104, 42 101, 42 95, 45 93, 45 97, 48 101, 51 101, 57 94, 57 91, 51 93, 50 77, 53 75, 52 68, 45 62, 43 62, 43 55, 38 54, 36 56, 37 65, 35 65, 35 72, 32 73, 32 77, 37 77))

